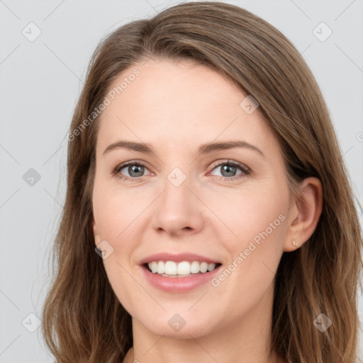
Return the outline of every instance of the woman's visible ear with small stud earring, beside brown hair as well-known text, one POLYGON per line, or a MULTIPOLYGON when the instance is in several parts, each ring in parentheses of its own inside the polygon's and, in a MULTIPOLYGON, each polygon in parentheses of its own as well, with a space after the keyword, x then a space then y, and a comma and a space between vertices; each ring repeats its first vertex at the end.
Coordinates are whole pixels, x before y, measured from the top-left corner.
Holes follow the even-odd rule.
POLYGON ((323 189, 318 178, 304 179, 300 188, 301 196, 294 199, 294 205, 289 208, 284 252, 298 249, 311 237, 323 210, 323 189), (292 240, 296 241, 296 246, 292 240))

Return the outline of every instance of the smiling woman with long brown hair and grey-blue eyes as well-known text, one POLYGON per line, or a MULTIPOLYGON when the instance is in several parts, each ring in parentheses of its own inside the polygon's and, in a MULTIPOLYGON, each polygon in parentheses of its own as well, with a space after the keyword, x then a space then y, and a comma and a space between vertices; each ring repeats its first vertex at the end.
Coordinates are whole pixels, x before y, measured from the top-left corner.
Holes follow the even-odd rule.
POLYGON ((94 52, 69 131, 57 362, 354 362, 362 237, 301 55, 228 4, 94 52))

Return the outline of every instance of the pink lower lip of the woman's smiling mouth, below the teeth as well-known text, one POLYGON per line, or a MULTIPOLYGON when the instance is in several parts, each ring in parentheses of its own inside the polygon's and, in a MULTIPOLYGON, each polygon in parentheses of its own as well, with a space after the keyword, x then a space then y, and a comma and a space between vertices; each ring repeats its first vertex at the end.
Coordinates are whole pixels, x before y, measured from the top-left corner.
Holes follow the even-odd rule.
POLYGON ((213 271, 205 272, 204 274, 195 274, 191 277, 162 277, 160 274, 153 274, 145 266, 142 266, 143 273, 146 279, 155 286, 157 289, 166 292, 187 292, 196 287, 211 281, 213 277, 218 274, 222 265, 213 269, 213 271))

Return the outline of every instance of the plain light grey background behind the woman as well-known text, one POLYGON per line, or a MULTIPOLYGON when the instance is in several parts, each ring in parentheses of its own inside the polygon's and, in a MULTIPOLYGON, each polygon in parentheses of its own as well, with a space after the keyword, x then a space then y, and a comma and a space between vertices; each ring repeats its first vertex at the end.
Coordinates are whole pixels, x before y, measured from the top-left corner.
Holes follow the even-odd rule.
MULTIPOLYGON (((49 288, 48 254, 65 199, 65 135, 91 53, 111 30, 178 2, 0 0, 1 363, 52 362, 40 328, 29 329, 49 288), (23 179, 30 168, 40 175, 33 186, 23 179)), ((363 1, 225 2, 269 21, 303 54, 362 204, 363 1)))

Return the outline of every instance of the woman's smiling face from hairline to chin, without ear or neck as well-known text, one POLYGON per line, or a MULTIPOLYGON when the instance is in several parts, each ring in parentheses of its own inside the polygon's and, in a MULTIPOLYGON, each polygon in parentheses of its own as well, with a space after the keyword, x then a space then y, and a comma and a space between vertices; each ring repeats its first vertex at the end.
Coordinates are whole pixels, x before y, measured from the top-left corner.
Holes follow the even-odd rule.
POLYGON ((125 70, 106 97, 94 236, 133 322, 165 337, 258 329, 291 199, 257 104, 208 67, 155 60, 125 70))

